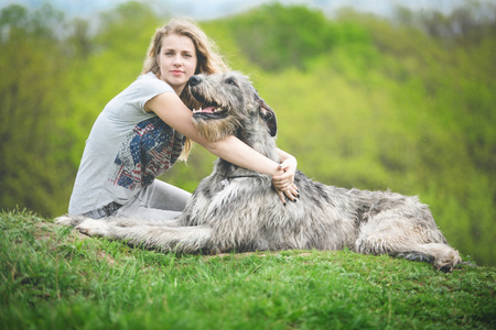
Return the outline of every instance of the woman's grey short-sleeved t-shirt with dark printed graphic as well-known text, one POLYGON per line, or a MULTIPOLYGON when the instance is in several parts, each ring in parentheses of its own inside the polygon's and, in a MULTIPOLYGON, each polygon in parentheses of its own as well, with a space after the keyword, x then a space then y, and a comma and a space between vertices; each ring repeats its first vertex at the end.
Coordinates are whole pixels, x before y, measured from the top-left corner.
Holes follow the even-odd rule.
POLYGON ((152 73, 142 75, 98 116, 77 172, 71 215, 126 204, 177 161, 184 136, 143 108, 162 92, 174 90, 152 73))

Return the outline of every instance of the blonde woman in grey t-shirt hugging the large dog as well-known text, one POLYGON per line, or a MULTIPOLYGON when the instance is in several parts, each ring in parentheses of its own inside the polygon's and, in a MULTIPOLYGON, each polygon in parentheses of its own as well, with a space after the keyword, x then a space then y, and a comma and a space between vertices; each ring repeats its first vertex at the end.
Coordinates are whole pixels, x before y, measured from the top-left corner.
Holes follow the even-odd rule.
POLYGON ((157 30, 142 75, 105 107, 89 133, 69 213, 175 218, 190 193, 155 177, 187 158, 191 141, 233 164, 271 175, 281 201, 283 194, 295 201, 293 156, 279 151, 282 163, 277 164, 235 136, 207 141, 193 125, 192 111, 180 98, 185 99, 190 77, 226 69, 192 22, 172 20, 157 30))

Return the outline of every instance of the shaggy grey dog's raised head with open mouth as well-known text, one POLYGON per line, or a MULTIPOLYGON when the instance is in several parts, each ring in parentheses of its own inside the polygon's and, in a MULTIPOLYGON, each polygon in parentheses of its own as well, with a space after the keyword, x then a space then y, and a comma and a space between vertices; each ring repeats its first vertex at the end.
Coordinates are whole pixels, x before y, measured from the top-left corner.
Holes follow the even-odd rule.
POLYGON ((276 113, 259 97, 248 77, 237 72, 196 75, 190 78, 188 89, 202 105, 193 110, 193 120, 209 141, 227 135, 241 138, 240 129, 249 123, 257 125, 250 129, 263 125, 265 133, 276 136, 276 113))

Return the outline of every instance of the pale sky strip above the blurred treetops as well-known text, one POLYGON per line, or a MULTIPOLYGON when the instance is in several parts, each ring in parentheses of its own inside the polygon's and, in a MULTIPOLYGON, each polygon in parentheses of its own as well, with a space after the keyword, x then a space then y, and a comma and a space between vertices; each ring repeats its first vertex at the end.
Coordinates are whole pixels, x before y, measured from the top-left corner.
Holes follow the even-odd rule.
MULTIPOLYGON (((69 16, 91 16, 106 11, 127 0, 0 0, 0 8, 11 3, 19 3, 28 8, 37 8, 45 2, 51 3, 69 16)), ((274 0, 139 0, 152 4, 154 8, 166 11, 172 15, 186 15, 195 20, 211 20, 245 11, 262 3, 274 0)), ((483 0, 494 2, 496 0, 483 0)), ((370 12, 381 16, 392 14, 397 4, 411 10, 440 11, 450 13, 456 7, 465 3, 464 0, 279 0, 283 4, 305 4, 310 8, 321 9, 328 15, 342 7, 353 7, 357 11, 370 12)))

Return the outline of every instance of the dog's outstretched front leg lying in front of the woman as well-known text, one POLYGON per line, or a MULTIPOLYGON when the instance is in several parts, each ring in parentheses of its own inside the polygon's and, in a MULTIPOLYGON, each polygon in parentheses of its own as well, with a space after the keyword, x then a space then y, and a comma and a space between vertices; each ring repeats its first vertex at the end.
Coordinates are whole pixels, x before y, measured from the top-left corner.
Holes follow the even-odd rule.
POLYGON ((215 252, 212 246, 212 229, 196 227, 118 227, 112 222, 88 219, 76 227, 90 237, 123 240, 132 245, 180 253, 215 252))

